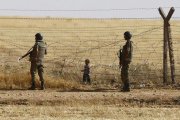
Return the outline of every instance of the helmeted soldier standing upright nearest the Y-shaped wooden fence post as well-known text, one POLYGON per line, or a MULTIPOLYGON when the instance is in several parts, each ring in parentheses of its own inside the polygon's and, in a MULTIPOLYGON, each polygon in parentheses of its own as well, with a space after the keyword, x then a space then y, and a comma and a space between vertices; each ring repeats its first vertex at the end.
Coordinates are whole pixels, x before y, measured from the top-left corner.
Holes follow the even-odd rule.
POLYGON ((123 88, 121 91, 129 92, 130 85, 129 85, 129 64, 132 61, 132 53, 133 53, 133 46, 131 40, 131 33, 126 31, 124 33, 124 39, 126 40, 126 44, 123 46, 123 49, 120 49, 120 69, 121 69, 121 80, 123 83, 123 88))

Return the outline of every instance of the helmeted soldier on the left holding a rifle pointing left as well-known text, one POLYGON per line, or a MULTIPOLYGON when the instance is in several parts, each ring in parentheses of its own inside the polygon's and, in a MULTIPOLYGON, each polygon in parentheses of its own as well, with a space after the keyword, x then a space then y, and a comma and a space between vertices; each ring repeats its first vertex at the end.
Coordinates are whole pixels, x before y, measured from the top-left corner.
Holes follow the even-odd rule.
POLYGON ((43 41, 43 36, 40 33, 37 33, 35 35, 35 44, 34 46, 22 57, 19 58, 21 60, 22 58, 26 57, 27 55, 30 55, 30 62, 31 62, 31 87, 30 90, 35 90, 35 74, 38 70, 38 75, 41 81, 41 90, 44 90, 44 77, 43 77, 43 60, 44 55, 47 54, 47 46, 46 43, 43 41))

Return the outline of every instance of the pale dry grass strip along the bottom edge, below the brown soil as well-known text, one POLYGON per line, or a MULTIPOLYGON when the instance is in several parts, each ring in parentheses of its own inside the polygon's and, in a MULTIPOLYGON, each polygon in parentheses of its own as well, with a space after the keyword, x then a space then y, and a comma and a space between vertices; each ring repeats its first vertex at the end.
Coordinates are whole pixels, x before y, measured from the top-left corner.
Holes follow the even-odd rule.
POLYGON ((2 106, 1 120, 179 120, 180 108, 2 106))

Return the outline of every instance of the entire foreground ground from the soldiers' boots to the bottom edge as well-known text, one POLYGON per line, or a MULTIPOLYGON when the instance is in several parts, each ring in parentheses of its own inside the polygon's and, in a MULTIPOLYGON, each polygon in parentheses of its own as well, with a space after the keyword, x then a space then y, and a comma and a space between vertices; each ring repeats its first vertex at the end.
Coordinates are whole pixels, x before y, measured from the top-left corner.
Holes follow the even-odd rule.
POLYGON ((180 120, 180 91, 1 90, 1 120, 180 120))

